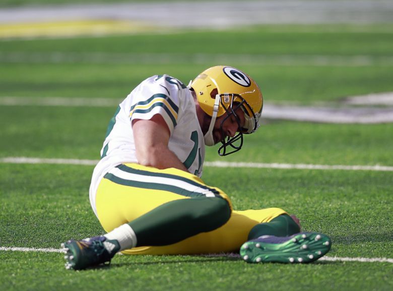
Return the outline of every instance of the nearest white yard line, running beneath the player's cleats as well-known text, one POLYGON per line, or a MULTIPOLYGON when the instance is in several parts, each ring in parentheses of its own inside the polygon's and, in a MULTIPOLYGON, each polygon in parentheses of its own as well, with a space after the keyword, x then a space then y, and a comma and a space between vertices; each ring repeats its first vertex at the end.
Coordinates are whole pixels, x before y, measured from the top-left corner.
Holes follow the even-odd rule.
MULTIPOLYGON (((0 251, 13 251, 13 252, 42 252, 42 253, 63 253, 62 249, 36 249, 36 248, 20 248, 20 247, 0 247, 0 251)), ((239 254, 229 253, 229 254, 211 254, 206 255, 208 257, 214 256, 228 256, 228 257, 240 257, 239 254)), ((361 263, 393 263, 393 259, 389 258, 348 258, 348 257, 322 257, 319 261, 331 261, 331 262, 361 262, 361 263)))

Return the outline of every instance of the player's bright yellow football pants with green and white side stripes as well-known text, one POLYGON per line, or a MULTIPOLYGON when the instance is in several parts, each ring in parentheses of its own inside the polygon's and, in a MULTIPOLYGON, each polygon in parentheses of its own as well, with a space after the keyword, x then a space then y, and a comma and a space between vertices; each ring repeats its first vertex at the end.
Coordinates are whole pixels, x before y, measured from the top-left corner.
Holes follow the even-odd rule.
MULTIPOLYGON (((115 179, 103 178, 96 194, 96 207, 98 219, 107 232, 142 216, 164 203, 191 198, 190 196, 184 196, 184 193, 182 193, 183 195, 174 193, 170 187, 168 189, 164 187, 164 183, 172 183, 172 186, 181 188, 184 187, 183 182, 186 179, 200 187, 214 190, 217 195, 227 200, 231 205, 229 197, 222 190, 205 185, 200 178, 191 173, 174 168, 160 170, 138 164, 125 164, 125 166, 143 173, 143 176, 136 177, 132 177, 132 174, 130 174, 130 180, 147 178, 154 185, 161 185, 160 183, 162 182, 163 187, 162 189, 157 189, 158 187, 154 186, 149 189, 144 184, 142 186, 140 184, 134 185, 135 183, 127 184, 128 176, 126 174, 124 174, 124 177, 122 176, 121 182, 115 179), (170 181, 167 181, 166 178, 160 180, 169 176, 171 178, 170 181)), ((137 247, 124 250, 122 253, 128 255, 181 255, 232 252, 238 250, 247 241, 248 233, 253 226, 261 222, 269 222, 281 214, 288 213, 280 208, 232 210, 232 215, 227 223, 213 231, 202 232, 168 246, 137 247)))

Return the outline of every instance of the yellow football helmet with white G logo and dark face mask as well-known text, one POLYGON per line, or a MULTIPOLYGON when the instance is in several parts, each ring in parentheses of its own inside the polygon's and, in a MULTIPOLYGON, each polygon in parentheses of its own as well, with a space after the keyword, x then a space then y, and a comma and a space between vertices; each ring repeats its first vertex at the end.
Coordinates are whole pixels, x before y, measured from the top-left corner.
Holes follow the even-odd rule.
MULTIPOLYGON (((239 127, 239 134, 223 142, 219 154, 229 154, 225 151, 227 145, 235 149, 230 153, 240 150, 243 143, 242 134, 253 133, 259 127, 263 97, 255 81, 233 67, 216 66, 199 74, 191 82, 190 87, 195 91, 201 108, 212 117, 209 131, 205 135, 206 145, 214 144, 212 130, 217 117, 224 113, 234 114, 237 107, 243 109, 245 112, 244 127, 239 127), (240 145, 235 146, 233 142, 239 140, 240 145)), ((236 114, 234 115, 236 117, 236 114)))

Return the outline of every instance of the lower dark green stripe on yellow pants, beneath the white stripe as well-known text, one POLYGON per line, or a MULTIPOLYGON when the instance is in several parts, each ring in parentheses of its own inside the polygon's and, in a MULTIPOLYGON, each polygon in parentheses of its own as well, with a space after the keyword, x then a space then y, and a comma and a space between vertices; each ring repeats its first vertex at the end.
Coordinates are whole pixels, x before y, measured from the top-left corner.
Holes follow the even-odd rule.
POLYGON ((187 190, 184 190, 182 188, 172 186, 172 185, 125 180, 125 179, 115 176, 112 173, 106 173, 104 178, 112 181, 113 183, 123 185, 123 186, 130 186, 130 187, 151 189, 151 190, 168 191, 168 192, 172 192, 172 193, 179 194, 181 196, 186 196, 186 197, 205 196, 202 193, 187 191, 187 190))

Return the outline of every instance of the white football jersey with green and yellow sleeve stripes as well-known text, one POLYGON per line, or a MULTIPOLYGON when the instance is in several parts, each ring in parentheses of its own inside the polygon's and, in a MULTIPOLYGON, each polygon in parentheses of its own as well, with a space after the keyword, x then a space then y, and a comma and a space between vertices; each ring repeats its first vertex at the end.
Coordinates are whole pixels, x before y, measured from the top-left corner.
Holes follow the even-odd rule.
POLYGON ((202 176, 205 141, 191 92, 170 76, 150 77, 119 104, 108 125, 90 185, 90 203, 96 215, 95 196, 103 176, 121 163, 138 163, 132 121, 150 120, 155 114, 164 118, 170 130, 168 148, 190 173, 202 176))

